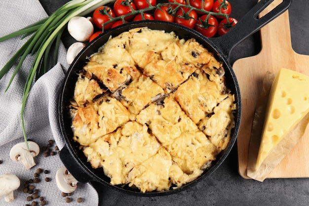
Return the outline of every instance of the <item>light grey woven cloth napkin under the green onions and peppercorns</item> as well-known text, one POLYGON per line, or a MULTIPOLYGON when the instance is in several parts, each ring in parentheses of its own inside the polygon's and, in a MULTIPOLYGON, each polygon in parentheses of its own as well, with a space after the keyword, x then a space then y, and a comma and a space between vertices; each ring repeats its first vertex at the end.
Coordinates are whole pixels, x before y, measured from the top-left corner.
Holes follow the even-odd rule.
MULTIPOLYGON (((0 13, 0 37, 47 16, 39 0, 3 1, 0 6, 0 13)), ((0 42, 0 69, 26 40, 27 38, 20 40, 20 37, 18 37, 0 42)), ((0 198, 1 206, 32 205, 32 202, 37 202, 39 205, 39 197, 43 197, 47 205, 50 206, 68 205, 65 200, 66 197, 62 197, 61 191, 57 188, 55 176, 57 169, 63 166, 58 150, 56 150, 56 146, 59 149, 64 146, 58 121, 58 96, 69 65, 66 63, 66 49, 63 44, 60 45, 58 58, 59 63, 33 84, 27 99, 24 112, 27 137, 29 140, 38 143, 41 149, 40 154, 35 157, 37 165, 29 170, 25 170, 21 163, 13 162, 9 157, 9 152, 16 143, 24 141, 20 113, 23 89, 33 56, 30 55, 26 58, 6 92, 5 88, 16 65, 0 80, 0 175, 13 173, 21 181, 20 187, 14 192, 15 200, 6 203, 3 198, 0 198), (49 140, 53 140, 50 150, 55 155, 45 157, 43 148, 47 147, 49 140), (46 173, 39 174, 39 183, 32 183, 38 168, 46 170, 46 173), (49 178, 49 180, 45 180, 45 178, 49 178), (39 190, 37 199, 27 201, 27 197, 31 196, 31 194, 23 191, 27 181, 30 181, 29 185, 32 185, 34 189, 39 190)), ((77 190, 73 192, 72 196, 69 196, 74 203, 73 205, 98 205, 98 194, 90 183, 78 183, 77 185, 77 190), (77 198, 82 198, 83 202, 77 203, 77 198)))

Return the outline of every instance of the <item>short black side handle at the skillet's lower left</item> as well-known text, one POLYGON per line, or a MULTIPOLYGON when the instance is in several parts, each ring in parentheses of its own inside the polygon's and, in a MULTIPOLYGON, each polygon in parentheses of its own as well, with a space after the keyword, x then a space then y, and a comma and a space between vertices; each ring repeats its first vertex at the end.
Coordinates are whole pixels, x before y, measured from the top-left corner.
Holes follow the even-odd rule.
POLYGON ((81 166, 77 164, 76 160, 72 157, 66 146, 61 149, 59 156, 62 163, 78 182, 87 183, 93 181, 93 179, 81 168, 81 166))

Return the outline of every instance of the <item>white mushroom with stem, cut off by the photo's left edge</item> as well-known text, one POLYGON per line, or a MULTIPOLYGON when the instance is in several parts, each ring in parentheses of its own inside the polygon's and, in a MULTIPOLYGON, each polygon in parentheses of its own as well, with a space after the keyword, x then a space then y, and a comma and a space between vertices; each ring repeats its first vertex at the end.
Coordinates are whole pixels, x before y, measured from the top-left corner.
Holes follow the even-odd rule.
POLYGON ((2 174, 0 175, 0 198, 4 197, 5 202, 14 200, 14 190, 20 186, 20 180, 15 174, 2 174))

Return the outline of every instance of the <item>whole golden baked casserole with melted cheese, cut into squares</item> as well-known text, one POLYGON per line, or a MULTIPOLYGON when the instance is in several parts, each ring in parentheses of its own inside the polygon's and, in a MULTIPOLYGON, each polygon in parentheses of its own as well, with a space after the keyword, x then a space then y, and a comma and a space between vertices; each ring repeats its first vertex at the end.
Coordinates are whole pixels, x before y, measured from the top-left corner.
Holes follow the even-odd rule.
POLYGON ((201 44, 132 29, 111 37, 78 74, 73 139, 113 185, 177 188, 227 147, 234 102, 222 64, 201 44))

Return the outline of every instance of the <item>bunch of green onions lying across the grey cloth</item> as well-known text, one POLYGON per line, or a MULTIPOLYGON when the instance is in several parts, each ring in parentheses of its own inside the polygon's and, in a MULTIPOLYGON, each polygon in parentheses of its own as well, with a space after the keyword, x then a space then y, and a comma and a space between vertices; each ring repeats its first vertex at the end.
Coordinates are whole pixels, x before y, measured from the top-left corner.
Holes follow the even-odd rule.
MULTIPOLYGON (((23 117, 27 96, 30 92, 34 77, 37 76, 36 79, 39 79, 39 77, 45 74, 47 71, 47 59, 49 57, 49 52, 52 45, 55 44, 55 52, 58 52, 60 37, 62 35, 62 32, 64 31, 65 26, 67 26, 67 23, 72 17, 84 16, 93 12, 97 7, 103 6, 113 1, 115 0, 71 0, 61 6, 59 9, 57 9, 49 17, 44 18, 32 25, 29 25, 19 31, 13 32, 4 37, 0 37, 1 42, 17 36, 22 36, 22 38, 25 38, 26 36, 32 34, 29 40, 20 47, 20 49, 0 70, 0 79, 2 79, 2 77, 11 69, 11 67, 13 67, 15 63, 18 63, 6 87, 7 90, 11 82, 13 81, 15 75, 22 66, 25 58, 29 54, 36 54, 24 87, 21 108, 22 129, 28 150, 29 147, 23 117)), ((54 64, 56 64, 56 62, 57 53, 55 55, 54 64)))

